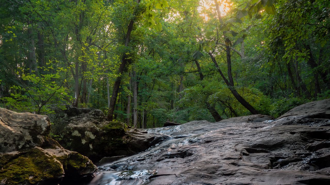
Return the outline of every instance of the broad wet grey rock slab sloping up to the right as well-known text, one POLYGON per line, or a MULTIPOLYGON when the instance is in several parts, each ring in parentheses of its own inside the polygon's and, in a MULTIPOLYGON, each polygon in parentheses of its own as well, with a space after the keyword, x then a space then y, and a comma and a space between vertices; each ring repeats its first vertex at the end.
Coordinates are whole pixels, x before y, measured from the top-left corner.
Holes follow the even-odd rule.
MULTIPOLYGON (((157 170, 139 183, 149 185, 328 185, 329 110, 326 99, 296 107, 278 119, 251 115, 146 129, 172 135, 172 140, 99 171, 157 170)), ((105 185, 108 173, 92 184, 105 185)))

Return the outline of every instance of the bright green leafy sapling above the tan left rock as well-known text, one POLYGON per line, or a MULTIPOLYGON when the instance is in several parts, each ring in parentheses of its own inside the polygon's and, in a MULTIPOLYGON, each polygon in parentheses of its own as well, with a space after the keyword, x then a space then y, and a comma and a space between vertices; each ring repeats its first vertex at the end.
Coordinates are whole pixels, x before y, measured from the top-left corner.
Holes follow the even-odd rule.
MULTIPOLYGON (((43 67, 44 70, 53 69, 43 67)), ((14 93, 12 97, 3 97, 5 107, 11 108, 16 112, 34 112, 37 114, 51 114, 53 106, 65 109, 65 103, 70 100, 68 89, 63 87, 66 78, 61 80, 60 84, 56 83, 63 71, 66 69, 58 67, 55 74, 35 74, 26 73, 26 71, 18 67, 16 77, 20 85, 12 86, 14 93)))

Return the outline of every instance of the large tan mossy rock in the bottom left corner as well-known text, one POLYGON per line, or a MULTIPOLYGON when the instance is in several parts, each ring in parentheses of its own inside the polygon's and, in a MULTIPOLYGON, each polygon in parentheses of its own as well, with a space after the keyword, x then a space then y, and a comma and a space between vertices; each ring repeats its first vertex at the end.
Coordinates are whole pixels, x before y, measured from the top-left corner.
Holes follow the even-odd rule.
POLYGON ((96 166, 49 138, 47 116, 0 108, 0 184, 57 185, 90 176, 96 166))

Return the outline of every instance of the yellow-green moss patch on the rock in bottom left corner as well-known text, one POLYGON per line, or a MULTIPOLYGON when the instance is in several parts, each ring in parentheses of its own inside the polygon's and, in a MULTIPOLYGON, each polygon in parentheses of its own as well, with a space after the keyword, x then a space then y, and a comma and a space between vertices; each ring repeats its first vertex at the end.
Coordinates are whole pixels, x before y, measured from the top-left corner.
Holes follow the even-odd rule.
POLYGON ((0 169, 0 179, 7 178, 8 185, 36 184, 62 175, 62 165, 37 148, 9 161, 0 169))

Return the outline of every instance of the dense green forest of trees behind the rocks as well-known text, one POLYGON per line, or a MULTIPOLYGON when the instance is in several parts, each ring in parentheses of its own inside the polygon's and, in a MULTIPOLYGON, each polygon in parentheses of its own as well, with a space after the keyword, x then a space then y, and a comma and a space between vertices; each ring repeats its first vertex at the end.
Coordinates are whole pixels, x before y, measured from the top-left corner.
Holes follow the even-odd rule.
POLYGON ((137 128, 330 98, 327 0, 1 0, 0 107, 137 128))

